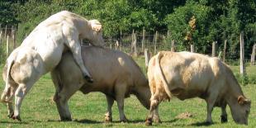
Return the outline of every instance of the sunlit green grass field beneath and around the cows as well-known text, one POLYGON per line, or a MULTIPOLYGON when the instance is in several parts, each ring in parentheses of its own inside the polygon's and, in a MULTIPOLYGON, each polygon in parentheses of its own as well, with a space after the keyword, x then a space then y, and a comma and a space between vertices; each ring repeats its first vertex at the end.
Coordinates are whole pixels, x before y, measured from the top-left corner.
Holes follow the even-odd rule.
MULTIPOLYGON (((140 65, 144 65, 143 59, 136 59, 140 65)), ((239 72, 238 66, 231 67, 235 73, 239 72)), ((2 66, 0 66, 2 76, 2 66)), ((145 72, 145 67, 143 67, 145 72)), ((247 67, 249 76, 256 76, 256 67, 247 67)), ((0 91, 4 88, 2 77, 0 78, 0 91)), ((249 114, 249 127, 256 126, 255 98, 256 84, 242 86, 244 94, 252 100, 251 112, 249 114)), ((69 100, 69 109, 73 116, 73 121, 59 121, 59 114, 52 102, 55 88, 51 82, 50 74, 46 74, 34 85, 31 91, 26 95, 21 106, 22 121, 12 121, 7 118, 7 107, 0 104, 0 127, 147 127, 145 126, 145 117, 148 115, 140 102, 134 97, 126 98, 125 112, 129 123, 119 122, 119 114, 116 102, 112 107, 112 123, 104 123, 104 114, 107 111, 107 102, 105 96, 100 92, 92 92, 83 95, 77 92, 69 100)), ((209 127, 242 127, 236 125, 228 111, 228 123, 220 123, 220 108, 216 107, 212 112, 214 124, 209 127)), ((206 102, 199 98, 193 98, 185 101, 179 101, 173 98, 171 102, 162 102, 159 107, 159 114, 163 123, 153 124, 150 127, 195 127, 202 126, 201 122, 206 120, 206 102), (192 113, 191 118, 178 119, 176 116, 183 112, 192 113)), ((244 126, 245 127, 245 126, 244 126)))

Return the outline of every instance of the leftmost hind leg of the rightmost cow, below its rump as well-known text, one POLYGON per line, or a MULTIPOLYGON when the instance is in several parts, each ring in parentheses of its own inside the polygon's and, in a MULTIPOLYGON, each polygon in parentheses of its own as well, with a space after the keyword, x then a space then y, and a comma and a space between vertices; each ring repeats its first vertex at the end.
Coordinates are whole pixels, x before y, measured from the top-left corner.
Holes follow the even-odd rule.
POLYGON ((158 99, 158 95, 156 93, 152 95, 152 97, 150 98, 150 101, 151 102, 150 102, 149 116, 145 121, 146 126, 152 126, 154 113, 158 112, 156 109, 159 107, 159 103, 160 103, 158 99))

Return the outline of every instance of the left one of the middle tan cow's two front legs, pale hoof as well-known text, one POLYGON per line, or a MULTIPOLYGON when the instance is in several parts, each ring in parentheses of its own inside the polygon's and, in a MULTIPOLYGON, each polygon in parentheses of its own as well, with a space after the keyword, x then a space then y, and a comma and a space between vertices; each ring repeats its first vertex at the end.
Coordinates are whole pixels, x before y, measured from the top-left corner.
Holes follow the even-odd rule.
POLYGON ((111 122, 112 121, 112 106, 114 104, 114 99, 110 96, 107 96, 107 113, 105 114, 105 121, 111 122))

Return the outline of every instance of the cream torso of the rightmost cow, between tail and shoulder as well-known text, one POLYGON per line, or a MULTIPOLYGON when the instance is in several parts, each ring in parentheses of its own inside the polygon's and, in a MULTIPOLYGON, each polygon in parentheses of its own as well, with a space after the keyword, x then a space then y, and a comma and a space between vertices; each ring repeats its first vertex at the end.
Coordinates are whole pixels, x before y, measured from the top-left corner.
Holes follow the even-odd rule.
POLYGON ((216 91, 225 83, 224 68, 219 59, 189 52, 164 52, 160 66, 169 90, 180 99, 206 97, 212 83, 216 91))

